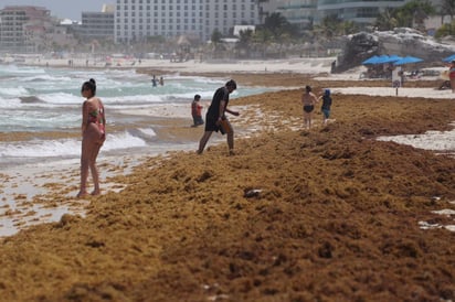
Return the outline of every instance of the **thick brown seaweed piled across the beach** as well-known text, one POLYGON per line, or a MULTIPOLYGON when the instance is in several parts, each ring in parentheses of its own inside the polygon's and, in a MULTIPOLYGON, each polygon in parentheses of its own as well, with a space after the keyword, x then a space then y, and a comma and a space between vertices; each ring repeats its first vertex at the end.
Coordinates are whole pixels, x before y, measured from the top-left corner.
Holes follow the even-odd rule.
MULTIPOLYGON (((118 173, 88 202, 65 195, 74 187, 52 187, 59 175, 47 175, 41 203, 82 204, 84 214, 3 238, 4 301, 455 299, 455 159, 377 140, 452 130, 455 101, 431 98, 437 82, 409 84, 433 88, 427 98, 411 98, 341 93, 389 91, 387 82, 293 72, 218 76, 284 89, 232 100, 242 109, 231 118, 233 157, 224 141, 211 140, 202 155, 106 163, 100 170, 118 173), (315 112, 309 131, 303 90, 294 88, 306 84, 336 91, 331 122, 322 127, 315 112)), ((172 137, 190 131, 168 127, 172 137)), ((191 130, 198 140, 202 128, 191 130)), ((66 173, 67 183, 77 180, 77 166, 66 173)))

